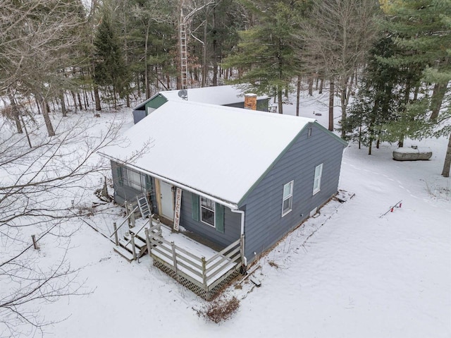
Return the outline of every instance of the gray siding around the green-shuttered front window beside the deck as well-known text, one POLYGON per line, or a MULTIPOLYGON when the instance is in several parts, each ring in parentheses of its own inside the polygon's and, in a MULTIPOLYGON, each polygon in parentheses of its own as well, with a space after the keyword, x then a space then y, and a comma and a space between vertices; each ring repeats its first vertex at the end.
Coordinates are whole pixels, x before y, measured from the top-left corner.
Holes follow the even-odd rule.
POLYGON ((183 191, 182 205, 180 210, 180 226, 192 231, 194 234, 202 235, 218 246, 225 248, 240 238, 241 232, 241 215, 231 212, 228 207, 224 207, 224 233, 216 231, 214 227, 210 227, 199 221, 192 219, 192 193, 183 191))

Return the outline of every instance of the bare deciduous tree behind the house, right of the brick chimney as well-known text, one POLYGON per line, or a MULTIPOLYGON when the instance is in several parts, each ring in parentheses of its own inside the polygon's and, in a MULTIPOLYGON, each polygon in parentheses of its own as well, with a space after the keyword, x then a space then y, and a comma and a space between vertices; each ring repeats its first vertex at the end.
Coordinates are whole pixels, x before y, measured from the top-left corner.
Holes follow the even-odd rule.
MULTIPOLYGON (((364 64, 376 37, 376 13, 377 2, 372 0, 316 1, 310 19, 302 23, 300 38, 305 46, 302 56, 312 71, 324 73, 338 91, 342 120, 346 119, 347 104, 356 83, 354 74, 364 64)), ((333 126, 329 125, 329 129, 333 130, 333 126)), ((345 138, 343 130, 342 138, 345 138)))

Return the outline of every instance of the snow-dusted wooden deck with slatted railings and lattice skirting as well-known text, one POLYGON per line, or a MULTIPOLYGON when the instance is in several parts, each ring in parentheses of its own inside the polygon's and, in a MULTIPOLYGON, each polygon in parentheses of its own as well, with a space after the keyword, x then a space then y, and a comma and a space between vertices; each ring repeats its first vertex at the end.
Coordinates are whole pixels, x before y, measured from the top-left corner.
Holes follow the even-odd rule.
MULTIPOLYGON (((148 220, 140 220, 129 231, 135 238, 129 242, 147 244, 154 266, 206 300, 216 296, 235 278, 242 265, 243 238, 215 251, 184 234, 172 232, 155 220, 152 226, 148 220)), ((119 250, 116 252, 123 255, 119 250)))

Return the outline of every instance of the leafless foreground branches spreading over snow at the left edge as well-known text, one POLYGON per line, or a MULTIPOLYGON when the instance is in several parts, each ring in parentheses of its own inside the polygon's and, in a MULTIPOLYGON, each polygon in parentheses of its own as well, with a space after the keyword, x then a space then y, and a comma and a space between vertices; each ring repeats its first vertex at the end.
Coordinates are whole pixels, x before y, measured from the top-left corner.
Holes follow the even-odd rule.
POLYGON ((30 130, 35 146, 28 147, 25 135, 0 119, 0 337, 28 337, 52 322, 39 317, 41 303, 87 292, 79 267, 66 259, 78 229, 68 221, 89 212, 82 206, 109 167, 93 155, 115 142, 118 123, 99 133, 82 117, 61 120, 52 138, 42 128, 30 130), (43 244, 42 255, 31 234, 43 244))

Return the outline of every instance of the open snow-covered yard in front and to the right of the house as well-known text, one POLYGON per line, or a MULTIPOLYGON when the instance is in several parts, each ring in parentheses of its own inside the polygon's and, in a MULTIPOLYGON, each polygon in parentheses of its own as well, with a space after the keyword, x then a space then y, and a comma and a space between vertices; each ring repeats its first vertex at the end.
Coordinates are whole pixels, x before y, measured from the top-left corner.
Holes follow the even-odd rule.
MULTIPOLYGON (((303 101, 302 116, 327 123, 323 105, 303 101)), ((395 162, 395 145, 371 156, 347 147, 339 188, 354 197, 326 205, 261 258, 259 288, 249 279, 230 286, 223 297, 237 296, 240 308, 220 324, 199 316, 208 303, 150 258, 126 262, 80 222, 68 258, 83 267, 78 281, 90 293, 43 303, 42 318, 63 320, 44 337, 451 337, 451 180, 440 176, 447 140, 410 144, 431 147, 433 157, 395 162)), ((86 222, 117 217, 110 210, 86 222)), ((49 237, 37 255, 55 250, 49 237)))

